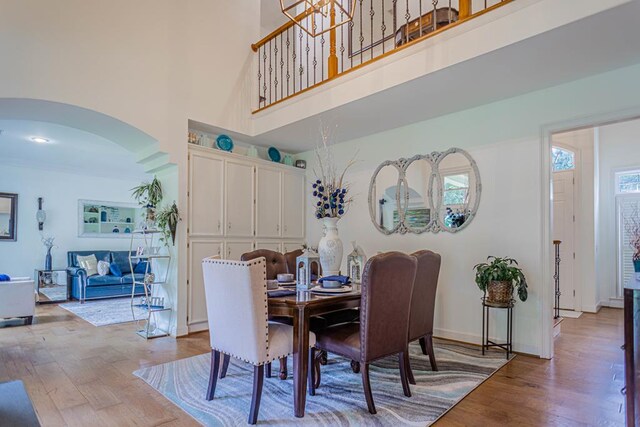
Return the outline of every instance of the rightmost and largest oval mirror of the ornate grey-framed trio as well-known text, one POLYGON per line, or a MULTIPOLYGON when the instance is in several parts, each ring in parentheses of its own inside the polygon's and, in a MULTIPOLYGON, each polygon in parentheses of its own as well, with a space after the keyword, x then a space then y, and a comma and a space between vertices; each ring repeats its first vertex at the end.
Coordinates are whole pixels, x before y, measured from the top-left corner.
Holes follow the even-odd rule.
POLYGON ((471 222, 480 203, 480 173, 473 158, 464 150, 452 148, 438 160, 438 223, 452 233, 471 222))

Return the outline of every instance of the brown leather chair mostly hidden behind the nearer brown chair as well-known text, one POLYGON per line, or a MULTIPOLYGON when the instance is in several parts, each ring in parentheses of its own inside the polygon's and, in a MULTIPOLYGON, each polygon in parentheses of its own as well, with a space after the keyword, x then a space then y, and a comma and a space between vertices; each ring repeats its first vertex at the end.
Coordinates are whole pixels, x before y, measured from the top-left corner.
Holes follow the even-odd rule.
MULTIPOLYGON (((436 306, 436 289, 440 275, 441 257, 435 252, 422 250, 411 254, 418 261, 416 280, 411 298, 411 314, 409 317, 409 343, 420 340, 424 355, 429 355, 431 369, 438 370, 436 356, 433 352, 433 315, 436 306)), ((409 382, 415 384, 409 355, 406 355, 409 382)))

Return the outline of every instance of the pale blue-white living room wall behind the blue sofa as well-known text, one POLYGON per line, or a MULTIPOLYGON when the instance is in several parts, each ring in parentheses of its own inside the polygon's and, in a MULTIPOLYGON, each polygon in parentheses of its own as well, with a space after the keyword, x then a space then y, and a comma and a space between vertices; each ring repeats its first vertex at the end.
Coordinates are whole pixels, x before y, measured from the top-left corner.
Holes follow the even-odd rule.
POLYGON ((36 222, 38 197, 44 199, 47 219, 43 235, 55 237, 53 267, 67 267, 67 251, 128 250, 126 238, 78 237, 78 200, 135 203, 130 189, 138 179, 92 177, 39 168, 2 165, 0 188, 18 194, 18 241, 0 242, 0 272, 33 276, 44 267, 45 249, 36 222))

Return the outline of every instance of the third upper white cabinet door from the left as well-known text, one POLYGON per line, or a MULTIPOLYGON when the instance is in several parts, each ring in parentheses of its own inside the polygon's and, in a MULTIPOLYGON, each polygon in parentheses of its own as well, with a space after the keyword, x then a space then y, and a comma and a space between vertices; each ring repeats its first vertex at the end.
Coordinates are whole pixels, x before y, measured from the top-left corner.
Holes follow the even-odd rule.
POLYGON ((256 168, 256 235, 280 237, 282 172, 258 166, 256 168))

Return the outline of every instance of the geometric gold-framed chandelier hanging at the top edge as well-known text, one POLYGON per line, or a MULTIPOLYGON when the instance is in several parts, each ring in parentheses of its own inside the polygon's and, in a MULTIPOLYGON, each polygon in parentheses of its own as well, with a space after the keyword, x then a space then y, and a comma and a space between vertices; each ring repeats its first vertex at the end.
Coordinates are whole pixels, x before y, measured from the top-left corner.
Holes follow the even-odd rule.
POLYGON ((356 0, 280 0, 280 9, 307 34, 317 37, 351 22, 356 0))

